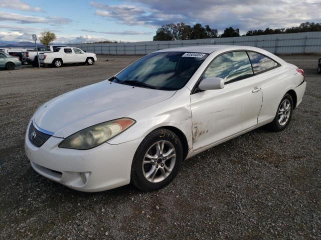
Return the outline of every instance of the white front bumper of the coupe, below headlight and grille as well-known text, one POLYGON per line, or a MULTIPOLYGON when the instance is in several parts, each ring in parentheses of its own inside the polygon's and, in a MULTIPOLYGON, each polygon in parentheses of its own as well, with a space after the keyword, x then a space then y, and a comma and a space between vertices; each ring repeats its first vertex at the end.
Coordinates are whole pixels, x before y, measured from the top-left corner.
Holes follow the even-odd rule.
MULTIPOLYGON (((27 129, 29 132, 29 129, 27 129)), ((50 137, 41 147, 25 138, 32 167, 41 175, 79 191, 103 191, 130 182, 132 158, 142 139, 89 150, 58 147, 64 138, 50 137)))

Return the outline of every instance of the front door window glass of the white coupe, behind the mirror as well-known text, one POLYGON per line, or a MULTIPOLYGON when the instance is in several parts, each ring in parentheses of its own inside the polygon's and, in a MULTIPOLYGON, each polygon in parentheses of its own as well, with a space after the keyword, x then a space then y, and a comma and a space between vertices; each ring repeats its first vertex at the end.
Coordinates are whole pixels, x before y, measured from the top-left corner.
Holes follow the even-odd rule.
POLYGON ((230 83, 251 75, 253 75, 253 70, 246 52, 234 51, 215 58, 205 71, 203 79, 221 77, 225 83, 230 83))

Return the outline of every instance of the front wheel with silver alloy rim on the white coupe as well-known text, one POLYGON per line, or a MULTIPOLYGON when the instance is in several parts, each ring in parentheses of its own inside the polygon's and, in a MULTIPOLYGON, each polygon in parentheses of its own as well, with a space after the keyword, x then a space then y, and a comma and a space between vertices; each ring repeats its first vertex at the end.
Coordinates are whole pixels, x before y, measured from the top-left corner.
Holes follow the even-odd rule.
POLYGON ((177 175, 182 160, 180 138, 169 129, 156 129, 142 140, 135 152, 130 182, 142 191, 163 188, 177 175))

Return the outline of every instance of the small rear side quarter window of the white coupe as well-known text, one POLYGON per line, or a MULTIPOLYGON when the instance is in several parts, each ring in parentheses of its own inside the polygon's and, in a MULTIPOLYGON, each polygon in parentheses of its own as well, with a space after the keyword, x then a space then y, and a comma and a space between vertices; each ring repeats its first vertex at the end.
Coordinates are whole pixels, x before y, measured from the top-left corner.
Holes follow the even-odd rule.
POLYGON ((259 73, 277 66, 277 62, 260 53, 248 51, 254 73, 259 73))

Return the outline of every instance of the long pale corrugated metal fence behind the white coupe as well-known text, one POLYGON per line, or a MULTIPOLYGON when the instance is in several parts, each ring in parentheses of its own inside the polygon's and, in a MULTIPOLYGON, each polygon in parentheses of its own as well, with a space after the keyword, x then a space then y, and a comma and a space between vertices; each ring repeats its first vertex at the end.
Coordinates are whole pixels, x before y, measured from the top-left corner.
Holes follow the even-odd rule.
POLYGON ((320 53, 321 32, 282 33, 258 36, 218 37, 178 41, 140 41, 128 43, 71 44, 96 54, 136 55, 165 48, 192 45, 248 45, 257 46, 275 54, 320 53))

